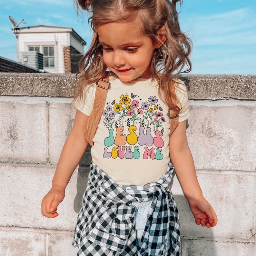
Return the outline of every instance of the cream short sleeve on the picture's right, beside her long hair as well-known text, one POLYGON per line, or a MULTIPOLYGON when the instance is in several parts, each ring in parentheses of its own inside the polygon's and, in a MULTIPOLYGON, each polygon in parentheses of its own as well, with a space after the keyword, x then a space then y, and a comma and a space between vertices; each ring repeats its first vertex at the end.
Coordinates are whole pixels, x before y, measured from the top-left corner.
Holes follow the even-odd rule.
POLYGON ((188 119, 189 117, 187 88, 183 81, 178 80, 175 90, 176 90, 176 96, 178 100, 178 107, 180 108, 179 122, 182 122, 188 119))

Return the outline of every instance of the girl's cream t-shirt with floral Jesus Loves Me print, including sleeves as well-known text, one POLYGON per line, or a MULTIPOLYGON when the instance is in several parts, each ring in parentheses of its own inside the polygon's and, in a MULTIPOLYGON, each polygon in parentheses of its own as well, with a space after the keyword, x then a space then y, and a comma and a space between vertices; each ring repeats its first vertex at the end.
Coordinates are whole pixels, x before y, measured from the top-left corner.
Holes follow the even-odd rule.
MULTIPOLYGON (((181 105, 179 122, 189 116, 186 86, 181 80, 176 95, 181 105)), ((151 79, 122 82, 110 77, 111 89, 93 138, 92 161, 119 185, 156 182, 166 172, 169 157, 168 107, 151 79)), ((85 90, 76 108, 90 115, 96 84, 85 90)))

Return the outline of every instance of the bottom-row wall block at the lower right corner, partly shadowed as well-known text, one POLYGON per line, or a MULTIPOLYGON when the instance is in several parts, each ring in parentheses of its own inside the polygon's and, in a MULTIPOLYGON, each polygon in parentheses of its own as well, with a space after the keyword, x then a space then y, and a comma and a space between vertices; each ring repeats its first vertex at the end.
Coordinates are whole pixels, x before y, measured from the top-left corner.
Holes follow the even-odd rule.
POLYGON ((255 256, 256 243, 182 239, 182 256, 255 256))

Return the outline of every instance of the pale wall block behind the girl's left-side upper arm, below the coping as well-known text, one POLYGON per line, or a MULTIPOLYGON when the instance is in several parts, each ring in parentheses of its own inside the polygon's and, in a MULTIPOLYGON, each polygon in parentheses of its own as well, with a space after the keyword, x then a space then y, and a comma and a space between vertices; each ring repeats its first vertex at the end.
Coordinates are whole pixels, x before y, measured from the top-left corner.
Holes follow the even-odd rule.
MULTIPOLYGON (((68 103, 51 103, 49 106, 49 161, 57 163, 67 136, 74 124, 76 109, 68 103)), ((90 147, 86 150, 81 164, 91 162, 90 147)))

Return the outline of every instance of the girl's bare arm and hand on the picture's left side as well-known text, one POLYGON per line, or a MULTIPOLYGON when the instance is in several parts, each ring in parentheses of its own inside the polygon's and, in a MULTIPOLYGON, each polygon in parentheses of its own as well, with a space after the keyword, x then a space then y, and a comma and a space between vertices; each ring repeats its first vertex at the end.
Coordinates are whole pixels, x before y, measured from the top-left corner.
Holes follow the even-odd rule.
POLYGON ((59 215, 57 207, 64 199, 66 186, 88 145, 88 142, 84 140, 84 126, 87 119, 87 115, 79 110, 76 111, 72 131, 64 143, 54 173, 52 188, 42 200, 41 213, 48 218, 54 218, 59 215))

